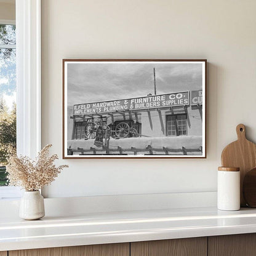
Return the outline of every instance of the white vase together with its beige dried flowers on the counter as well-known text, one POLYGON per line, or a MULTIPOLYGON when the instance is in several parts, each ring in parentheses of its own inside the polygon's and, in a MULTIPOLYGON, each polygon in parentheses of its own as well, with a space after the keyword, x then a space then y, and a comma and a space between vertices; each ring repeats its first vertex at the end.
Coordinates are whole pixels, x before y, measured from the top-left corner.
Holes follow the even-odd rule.
POLYGON ((44 198, 39 190, 44 185, 49 185, 58 176, 60 171, 68 167, 55 166, 54 161, 58 159, 57 154, 49 155, 46 145, 33 161, 27 156, 18 157, 17 154, 9 156, 6 171, 8 173, 9 186, 20 186, 25 190, 20 201, 20 218, 25 220, 37 220, 44 217, 44 198))

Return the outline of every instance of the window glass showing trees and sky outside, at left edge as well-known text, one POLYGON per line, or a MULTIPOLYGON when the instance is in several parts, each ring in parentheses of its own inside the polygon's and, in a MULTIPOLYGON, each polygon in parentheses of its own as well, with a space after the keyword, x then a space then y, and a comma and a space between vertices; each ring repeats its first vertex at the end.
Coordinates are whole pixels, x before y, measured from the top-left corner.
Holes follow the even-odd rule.
POLYGON ((16 150, 15 43, 15 25, 0 25, 0 186, 7 185, 7 156, 16 150))

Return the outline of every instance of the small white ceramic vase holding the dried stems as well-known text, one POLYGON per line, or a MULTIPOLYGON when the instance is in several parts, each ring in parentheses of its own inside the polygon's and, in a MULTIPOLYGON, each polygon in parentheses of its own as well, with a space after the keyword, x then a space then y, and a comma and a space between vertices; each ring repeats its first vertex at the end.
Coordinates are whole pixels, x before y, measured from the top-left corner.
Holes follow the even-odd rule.
POLYGON ((20 200, 18 215, 24 220, 38 220, 44 217, 44 198, 39 191, 25 191, 20 200))

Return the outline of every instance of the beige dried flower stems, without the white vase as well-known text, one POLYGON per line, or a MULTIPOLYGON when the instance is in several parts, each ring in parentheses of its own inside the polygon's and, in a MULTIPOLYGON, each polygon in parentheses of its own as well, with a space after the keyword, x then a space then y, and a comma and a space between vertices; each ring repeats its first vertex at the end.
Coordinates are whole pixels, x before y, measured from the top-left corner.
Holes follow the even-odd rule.
POLYGON ((50 144, 44 146, 35 161, 28 156, 18 157, 17 154, 9 156, 6 166, 9 186, 21 186, 26 191, 37 191, 44 185, 52 183, 61 170, 68 166, 54 165, 58 156, 57 154, 48 156, 51 146, 50 144))

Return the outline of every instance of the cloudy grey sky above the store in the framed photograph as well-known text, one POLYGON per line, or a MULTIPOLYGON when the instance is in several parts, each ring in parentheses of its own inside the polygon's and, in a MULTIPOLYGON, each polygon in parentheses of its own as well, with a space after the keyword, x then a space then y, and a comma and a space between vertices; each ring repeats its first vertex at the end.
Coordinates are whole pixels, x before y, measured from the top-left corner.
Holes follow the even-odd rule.
POLYGON ((201 63, 68 63, 68 106, 202 89, 201 63))

